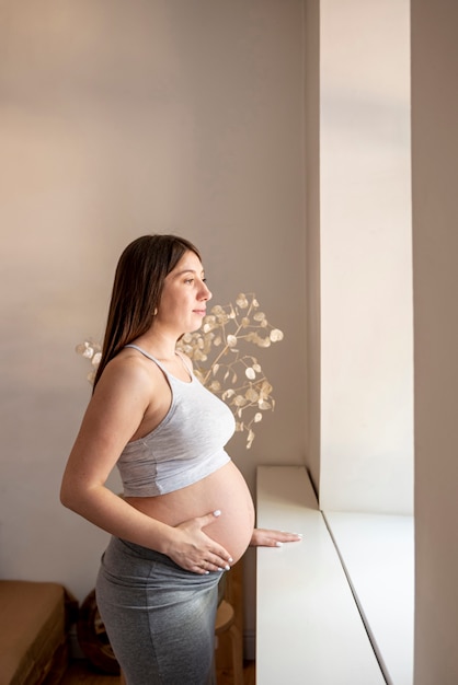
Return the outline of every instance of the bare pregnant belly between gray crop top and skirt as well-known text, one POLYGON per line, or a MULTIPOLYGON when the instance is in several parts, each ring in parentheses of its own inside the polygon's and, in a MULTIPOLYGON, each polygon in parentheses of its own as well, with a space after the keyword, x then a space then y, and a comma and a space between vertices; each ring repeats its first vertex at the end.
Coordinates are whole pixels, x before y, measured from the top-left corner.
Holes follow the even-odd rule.
POLYGON ((220 510, 220 516, 204 530, 225 547, 233 562, 243 555, 253 533, 253 500, 233 462, 180 490, 157 497, 126 497, 126 501, 148 516, 172 526, 220 510))

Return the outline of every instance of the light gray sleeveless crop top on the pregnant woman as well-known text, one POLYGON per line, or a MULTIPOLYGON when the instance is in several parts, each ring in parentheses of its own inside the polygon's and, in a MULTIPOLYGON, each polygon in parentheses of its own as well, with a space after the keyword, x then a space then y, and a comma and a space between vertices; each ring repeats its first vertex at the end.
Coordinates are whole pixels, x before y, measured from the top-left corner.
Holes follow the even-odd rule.
POLYGON ((128 442, 117 467, 125 497, 154 497, 179 490, 205 478, 230 461, 224 446, 234 431, 229 407, 195 378, 183 360, 191 381, 171 375, 153 357, 136 345, 126 345, 161 369, 172 391, 172 403, 150 433, 128 442))

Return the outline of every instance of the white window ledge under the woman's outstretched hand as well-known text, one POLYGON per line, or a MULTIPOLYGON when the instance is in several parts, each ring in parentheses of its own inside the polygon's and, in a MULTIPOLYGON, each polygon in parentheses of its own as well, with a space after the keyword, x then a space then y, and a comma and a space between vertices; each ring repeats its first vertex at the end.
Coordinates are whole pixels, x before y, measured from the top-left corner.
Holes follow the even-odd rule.
POLYGON ((257 683, 411 685, 413 521, 324 516, 304 467, 261 466, 257 525, 304 534, 257 549, 257 683))

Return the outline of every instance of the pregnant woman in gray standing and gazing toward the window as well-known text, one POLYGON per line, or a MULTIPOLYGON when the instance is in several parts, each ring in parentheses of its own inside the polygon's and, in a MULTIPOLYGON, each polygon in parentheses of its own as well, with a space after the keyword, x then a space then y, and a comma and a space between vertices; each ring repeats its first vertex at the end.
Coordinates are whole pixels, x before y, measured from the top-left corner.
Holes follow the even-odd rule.
POLYGON ((127 685, 209 685, 218 582, 249 545, 300 536, 254 529, 247 484, 225 451, 232 413, 176 351, 211 293, 201 255, 173 235, 122 254, 101 363, 61 502, 112 537, 96 601, 127 685), (123 497, 106 479, 117 466, 123 497))

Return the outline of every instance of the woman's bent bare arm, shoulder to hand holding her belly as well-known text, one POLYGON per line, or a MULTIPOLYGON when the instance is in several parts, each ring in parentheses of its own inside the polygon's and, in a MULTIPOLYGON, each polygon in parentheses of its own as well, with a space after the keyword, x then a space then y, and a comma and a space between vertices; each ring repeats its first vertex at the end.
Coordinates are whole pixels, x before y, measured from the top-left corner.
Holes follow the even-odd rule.
POLYGON ((139 512, 105 486, 150 398, 151 374, 142 363, 130 358, 110 362, 68 458, 61 502, 107 533, 165 554, 186 570, 204 573, 225 568, 229 553, 202 530, 214 520, 213 512, 172 527, 139 512))

